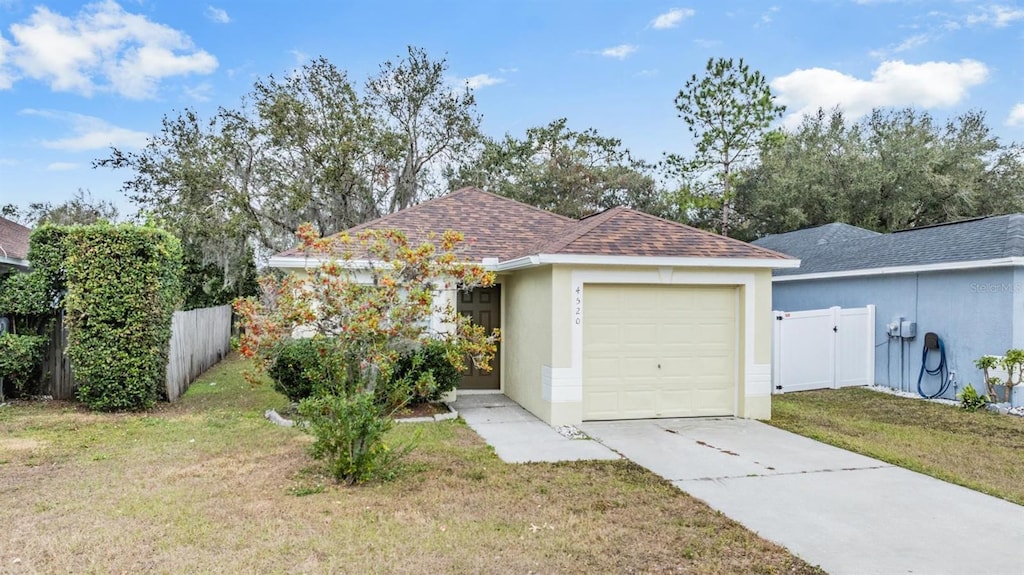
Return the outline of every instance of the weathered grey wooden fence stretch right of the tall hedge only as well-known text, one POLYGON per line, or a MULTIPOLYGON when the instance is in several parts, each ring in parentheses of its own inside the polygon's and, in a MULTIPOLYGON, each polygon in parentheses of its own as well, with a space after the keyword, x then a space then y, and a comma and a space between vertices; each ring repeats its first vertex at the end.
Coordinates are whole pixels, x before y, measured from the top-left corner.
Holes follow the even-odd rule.
POLYGON ((167 399, 175 401, 196 378, 231 349, 231 306, 176 311, 167 356, 167 399))

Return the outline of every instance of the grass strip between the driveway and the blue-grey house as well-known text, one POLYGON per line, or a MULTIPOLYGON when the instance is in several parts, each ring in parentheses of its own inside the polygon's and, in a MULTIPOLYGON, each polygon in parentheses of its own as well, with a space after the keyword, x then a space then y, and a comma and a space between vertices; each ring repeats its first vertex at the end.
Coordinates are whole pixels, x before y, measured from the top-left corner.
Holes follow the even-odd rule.
POLYGON ((1024 417, 847 388, 776 395, 769 423, 1024 505, 1024 417))

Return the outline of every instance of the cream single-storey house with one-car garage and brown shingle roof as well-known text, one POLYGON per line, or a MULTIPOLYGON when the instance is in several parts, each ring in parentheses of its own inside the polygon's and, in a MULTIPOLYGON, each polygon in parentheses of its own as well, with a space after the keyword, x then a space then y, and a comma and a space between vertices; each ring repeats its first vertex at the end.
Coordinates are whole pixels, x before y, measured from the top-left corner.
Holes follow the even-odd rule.
MULTIPOLYGON (((489 374, 553 425, 585 419, 771 415, 770 250, 626 208, 572 220, 464 188, 362 224, 411 239, 454 229, 498 284, 442 294, 503 341, 489 374)), ((302 270, 301 253, 270 266, 302 270)))

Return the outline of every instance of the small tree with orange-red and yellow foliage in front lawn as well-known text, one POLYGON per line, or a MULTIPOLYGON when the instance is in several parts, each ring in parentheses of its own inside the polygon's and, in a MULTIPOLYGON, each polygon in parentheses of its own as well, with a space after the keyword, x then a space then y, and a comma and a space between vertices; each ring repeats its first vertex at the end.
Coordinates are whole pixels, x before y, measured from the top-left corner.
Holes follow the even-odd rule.
POLYGON ((391 416, 414 388, 432 384, 429 377, 392 378, 402 353, 433 338, 445 343, 456 368, 465 369, 467 359, 489 368, 498 330, 487 334, 451 302, 435 300, 445 291, 492 285, 495 275, 460 260, 465 239, 455 231, 415 245, 397 230, 321 237, 303 225, 298 238, 310 263, 306 273, 264 276, 262 298, 236 301, 244 327, 239 350, 254 360, 255 375, 291 338, 322 343, 319 392, 300 402, 299 412, 316 437, 313 455, 328 461, 336 479, 353 483, 395 453, 383 441, 391 416))

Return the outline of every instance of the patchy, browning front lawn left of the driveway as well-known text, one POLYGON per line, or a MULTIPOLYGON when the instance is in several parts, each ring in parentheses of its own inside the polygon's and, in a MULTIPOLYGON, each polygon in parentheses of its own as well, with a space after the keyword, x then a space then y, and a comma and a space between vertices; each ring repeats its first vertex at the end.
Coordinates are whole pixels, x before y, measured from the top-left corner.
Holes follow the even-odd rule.
POLYGON ((0 573, 821 573, 637 466, 505 465, 459 422, 335 486, 245 364, 144 414, 0 407, 0 573))

